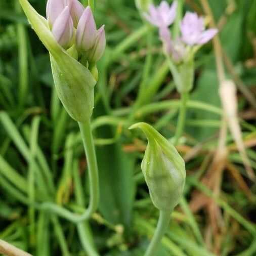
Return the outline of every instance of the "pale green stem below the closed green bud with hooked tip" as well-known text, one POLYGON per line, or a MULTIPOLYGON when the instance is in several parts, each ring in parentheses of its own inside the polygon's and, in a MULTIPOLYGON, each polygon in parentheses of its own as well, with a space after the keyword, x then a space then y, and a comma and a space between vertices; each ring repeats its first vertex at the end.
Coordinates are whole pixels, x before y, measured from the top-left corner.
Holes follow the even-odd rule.
POLYGON ((157 223, 157 227, 156 227, 154 236, 153 236, 144 256, 156 255, 155 251, 156 251, 157 246, 159 245, 164 233, 166 232, 166 230, 168 228, 171 213, 172 212, 170 212, 170 211, 160 210, 160 216, 158 219, 158 223, 157 223))

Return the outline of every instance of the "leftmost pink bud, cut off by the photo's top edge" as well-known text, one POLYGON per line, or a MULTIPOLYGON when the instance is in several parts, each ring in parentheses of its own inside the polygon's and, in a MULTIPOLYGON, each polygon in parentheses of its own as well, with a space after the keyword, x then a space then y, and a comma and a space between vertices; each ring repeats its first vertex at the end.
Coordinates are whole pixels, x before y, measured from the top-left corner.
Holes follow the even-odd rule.
POLYGON ((66 6, 67 0, 48 0, 46 17, 51 27, 66 6))

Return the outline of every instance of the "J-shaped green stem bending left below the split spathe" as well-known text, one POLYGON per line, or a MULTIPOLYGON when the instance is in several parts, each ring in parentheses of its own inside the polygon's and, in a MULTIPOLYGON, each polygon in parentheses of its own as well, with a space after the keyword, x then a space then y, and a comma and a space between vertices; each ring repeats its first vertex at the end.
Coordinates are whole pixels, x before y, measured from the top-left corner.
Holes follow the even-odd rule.
POLYGON ((84 150, 86 151, 88 172, 89 172, 89 184, 90 184, 90 203, 86 211, 82 215, 77 215, 72 211, 65 209, 64 207, 55 203, 42 203, 39 208, 49 209, 60 217, 63 217, 70 222, 78 223, 84 220, 88 220, 91 215, 96 211, 99 204, 99 176, 96 152, 93 142, 93 134, 91 122, 79 122, 79 127, 82 135, 82 142, 84 150))

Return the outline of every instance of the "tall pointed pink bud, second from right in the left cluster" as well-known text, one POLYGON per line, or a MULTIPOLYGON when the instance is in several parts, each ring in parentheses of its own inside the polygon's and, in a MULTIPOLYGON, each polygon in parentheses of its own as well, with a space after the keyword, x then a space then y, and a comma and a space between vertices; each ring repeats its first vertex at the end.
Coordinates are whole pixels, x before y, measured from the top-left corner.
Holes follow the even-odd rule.
POLYGON ((80 52, 87 52, 93 48, 96 38, 96 24, 90 7, 87 7, 78 22, 76 31, 76 45, 80 52))

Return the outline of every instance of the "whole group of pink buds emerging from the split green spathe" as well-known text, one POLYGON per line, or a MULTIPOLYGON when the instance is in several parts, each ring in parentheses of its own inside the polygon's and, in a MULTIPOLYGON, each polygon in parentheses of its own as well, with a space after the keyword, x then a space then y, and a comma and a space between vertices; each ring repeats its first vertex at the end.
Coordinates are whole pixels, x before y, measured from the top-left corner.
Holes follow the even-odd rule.
POLYGON ((65 49, 75 46, 80 56, 95 64, 106 47, 104 25, 97 30, 90 7, 84 9, 78 0, 48 0, 49 27, 65 49))

